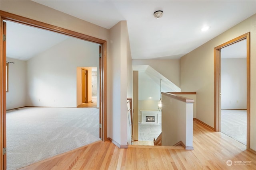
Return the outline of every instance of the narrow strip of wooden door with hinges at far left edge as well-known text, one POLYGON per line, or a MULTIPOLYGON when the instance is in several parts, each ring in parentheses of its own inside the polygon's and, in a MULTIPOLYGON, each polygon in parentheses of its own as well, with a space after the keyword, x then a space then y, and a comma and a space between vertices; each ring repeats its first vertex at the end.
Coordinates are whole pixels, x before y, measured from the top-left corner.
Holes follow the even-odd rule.
MULTIPOLYGON (((1 63, 1 77, 2 78, 2 82, 1 82, 1 118, 2 118, 2 137, 1 139, 3 139, 1 141, 2 145, 1 145, 1 150, 2 150, 2 154, 1 157, 3 155, 3 157, 1 158, 1 164, 4 170, 6 170, 6 22, 3 22, 3 32, 2 32, 2 61, 3 63, 1 63)), ((0 119, 1 120, 1 119, 0 119)))

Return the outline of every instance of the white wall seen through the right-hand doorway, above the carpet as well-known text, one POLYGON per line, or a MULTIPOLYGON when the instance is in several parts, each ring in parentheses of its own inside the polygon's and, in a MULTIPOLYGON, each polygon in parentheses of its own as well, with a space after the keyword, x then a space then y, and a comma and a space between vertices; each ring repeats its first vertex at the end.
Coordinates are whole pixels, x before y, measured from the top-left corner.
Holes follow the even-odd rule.
POLYGON ((221 108, 247 108, 246 58, 221 59, 221 108))

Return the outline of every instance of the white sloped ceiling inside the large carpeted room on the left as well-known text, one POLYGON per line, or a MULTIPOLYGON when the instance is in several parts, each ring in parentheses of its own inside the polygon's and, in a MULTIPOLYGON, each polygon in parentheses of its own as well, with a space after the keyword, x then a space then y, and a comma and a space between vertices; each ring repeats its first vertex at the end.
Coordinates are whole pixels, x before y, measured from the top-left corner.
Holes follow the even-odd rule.
POLYGON ((66 35, 6 22, 6 57, 26 61, 68 38, 66 35))

